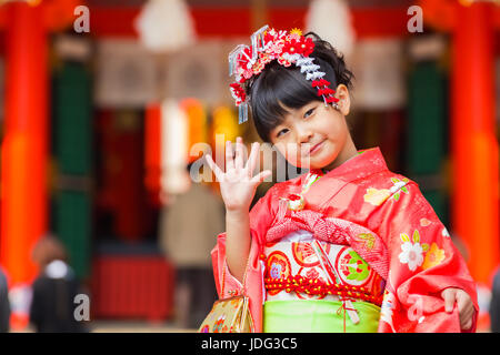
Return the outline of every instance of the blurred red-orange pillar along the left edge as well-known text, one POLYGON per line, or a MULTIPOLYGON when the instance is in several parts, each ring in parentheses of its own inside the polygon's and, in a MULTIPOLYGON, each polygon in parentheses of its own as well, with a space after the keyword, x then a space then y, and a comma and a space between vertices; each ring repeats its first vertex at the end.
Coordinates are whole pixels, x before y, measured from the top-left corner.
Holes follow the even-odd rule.
POLYGON ((9 274, 10 290, 18 291, 12 315, 22 325, 27 316, 23 290, 37 272, 31 248, 47 230, 48 45, 40 7, 26 2, 6 7, 0 261, 9 274))

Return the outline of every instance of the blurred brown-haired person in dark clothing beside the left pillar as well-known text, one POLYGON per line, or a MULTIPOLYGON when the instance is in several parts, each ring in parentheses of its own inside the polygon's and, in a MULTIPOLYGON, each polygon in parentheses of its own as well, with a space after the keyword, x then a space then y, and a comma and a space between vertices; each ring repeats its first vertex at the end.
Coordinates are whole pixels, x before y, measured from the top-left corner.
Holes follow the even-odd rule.
POLYGON ((41 239, 33 250, 40 275, 32 284, 30 322, 39 333, 87 332, 84 323, 76 320, 74 297, 80 284, 67 263, 62 244, 53 236, 41 239))

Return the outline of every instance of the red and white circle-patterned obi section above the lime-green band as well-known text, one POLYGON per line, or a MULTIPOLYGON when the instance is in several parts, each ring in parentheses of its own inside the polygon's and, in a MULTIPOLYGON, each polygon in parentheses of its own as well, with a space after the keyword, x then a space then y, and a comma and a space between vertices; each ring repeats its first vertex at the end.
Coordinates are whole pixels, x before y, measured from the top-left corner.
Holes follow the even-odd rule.
POLYGON ((384 280, 352 247, 320 242, 334 268, 332 285, 312 242, 311 233, 297 231, 266 244, 266 301, 348 297, 381 305, 384 280))

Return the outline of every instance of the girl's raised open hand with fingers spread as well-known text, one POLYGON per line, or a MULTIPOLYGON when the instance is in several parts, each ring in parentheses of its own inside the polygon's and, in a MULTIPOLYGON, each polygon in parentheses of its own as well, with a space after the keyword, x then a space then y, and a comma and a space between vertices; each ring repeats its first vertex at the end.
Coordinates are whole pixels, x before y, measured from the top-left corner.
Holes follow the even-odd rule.
POLYGON ((227 211, 248 212, 257 186, 272 174, 271 171, 264 170, 252 176, 258 163, 259 145, 257 142, 252 143, 250 155, 247 163, 244 163, 243 140, 240 136, 237 138, 236 154, 231 141, 227 141, 226 172, 213 162, 210 155, 207 155, 207 163, 219 181, 220 192, 227 211))

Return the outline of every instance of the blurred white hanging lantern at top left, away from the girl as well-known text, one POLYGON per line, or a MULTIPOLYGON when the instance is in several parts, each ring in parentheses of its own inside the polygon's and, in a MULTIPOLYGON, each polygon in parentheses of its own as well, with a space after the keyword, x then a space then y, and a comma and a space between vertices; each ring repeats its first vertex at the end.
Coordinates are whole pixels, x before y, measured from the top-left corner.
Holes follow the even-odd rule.
POLYGON ((196 31, 183 0, 149 0, 136 20, 142 44, 153 52, 169 52, 192 44, 196 31))

